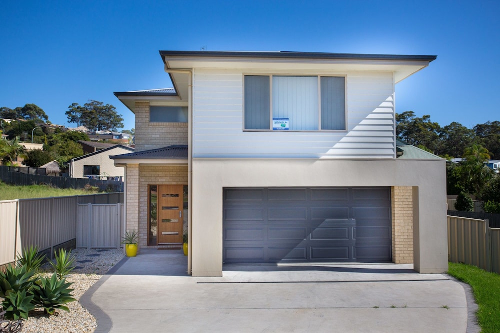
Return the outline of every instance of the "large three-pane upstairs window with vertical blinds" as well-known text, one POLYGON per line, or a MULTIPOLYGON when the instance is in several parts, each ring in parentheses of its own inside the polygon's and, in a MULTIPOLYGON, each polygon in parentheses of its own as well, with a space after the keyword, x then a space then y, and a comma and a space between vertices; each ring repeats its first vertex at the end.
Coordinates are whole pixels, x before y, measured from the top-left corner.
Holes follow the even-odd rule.
POLYGON ((289 130, 346 130, 345 77, 245 75, 244 129, 270 130, 272 118, 289 130))

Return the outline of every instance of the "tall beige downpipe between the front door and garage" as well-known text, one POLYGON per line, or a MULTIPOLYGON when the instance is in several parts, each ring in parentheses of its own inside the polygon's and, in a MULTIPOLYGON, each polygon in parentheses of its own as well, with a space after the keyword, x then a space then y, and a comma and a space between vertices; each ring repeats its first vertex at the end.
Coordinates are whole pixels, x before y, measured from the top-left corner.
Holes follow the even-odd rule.
MULTIPOLYGON (((187 274, 192 269, 192 70, 186 68, 169 68, 162 56, 166 73, 187 74, 187 274)), ((171 75, 170 75, 171 79, 171 75)), ((175 87, 175 82, 172 83, 175 87)), ((175 89, 178 91, 177 89, 175 89)))

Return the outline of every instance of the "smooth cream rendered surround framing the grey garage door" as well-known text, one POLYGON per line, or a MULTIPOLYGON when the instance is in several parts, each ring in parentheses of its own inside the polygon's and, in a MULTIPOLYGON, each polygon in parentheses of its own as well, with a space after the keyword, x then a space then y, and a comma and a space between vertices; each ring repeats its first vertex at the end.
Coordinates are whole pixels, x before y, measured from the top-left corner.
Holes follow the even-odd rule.
POLYGON ((192 275, 222 274, 224 187, 412 186, 413 266, 447 271, 444 160, 193 159, 192 275))

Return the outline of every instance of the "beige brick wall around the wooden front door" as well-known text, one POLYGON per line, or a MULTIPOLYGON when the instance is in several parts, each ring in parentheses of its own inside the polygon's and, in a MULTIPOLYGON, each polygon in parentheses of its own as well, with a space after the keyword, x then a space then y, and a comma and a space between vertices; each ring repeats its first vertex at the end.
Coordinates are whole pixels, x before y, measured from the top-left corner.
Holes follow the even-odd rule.
POLYGON ((147 233, 148 233, 147 231, 148 185, 161 185, 161 184, 187 185, 187 165, 139 166, 138 177, 140 177, 140 184, 138 186, 138 191, 135 192, 136 195, 134 196, 134 200, 138 204, 138 215, 136 216, 136 223, 138 224, 139 247, 146 247, 147 233))

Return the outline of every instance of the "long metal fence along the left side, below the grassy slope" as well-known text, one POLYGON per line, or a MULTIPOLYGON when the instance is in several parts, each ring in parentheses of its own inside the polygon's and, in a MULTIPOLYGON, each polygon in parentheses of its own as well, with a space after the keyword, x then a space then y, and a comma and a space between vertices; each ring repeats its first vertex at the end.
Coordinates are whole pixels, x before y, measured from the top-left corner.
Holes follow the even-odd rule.
MULTIPOLYGON (((116 210, 116 204, 122 202, 123 193, 0 201, 0 266, 13 262, 15 255, 30 245, 37 246, 48 257, 52 257, 53 250, 58 247, 74 248, 78 237, 81 237, 77 234, 79 204, 107 204, 116 210)), ((121 218, 122 205, 120 207, 121 218)), ((107 221, 104 213, 97 217, 97 222, 93 224, 101 228, 97 230, 106 228, 99 224, 116 223, 107 221)), ((92 237, 98 232, 94 231, 92 237)), ((115 238, 118 236, 116 229, 115 238)), ((117 247, 115 240, 108 245, 104 241, 98 244, 102 247, 117 247)))

